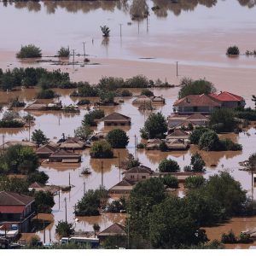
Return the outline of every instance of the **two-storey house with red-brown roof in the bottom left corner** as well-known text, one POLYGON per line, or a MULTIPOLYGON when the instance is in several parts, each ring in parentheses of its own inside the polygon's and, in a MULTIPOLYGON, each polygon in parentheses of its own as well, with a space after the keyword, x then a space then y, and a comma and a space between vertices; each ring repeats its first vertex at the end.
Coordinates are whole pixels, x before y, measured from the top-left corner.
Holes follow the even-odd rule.
POLYGON ((35 214, 35 199, 32 196, 0 191, 0 226, 8 230, 14 226, 20 232, 28 232, 35 214))

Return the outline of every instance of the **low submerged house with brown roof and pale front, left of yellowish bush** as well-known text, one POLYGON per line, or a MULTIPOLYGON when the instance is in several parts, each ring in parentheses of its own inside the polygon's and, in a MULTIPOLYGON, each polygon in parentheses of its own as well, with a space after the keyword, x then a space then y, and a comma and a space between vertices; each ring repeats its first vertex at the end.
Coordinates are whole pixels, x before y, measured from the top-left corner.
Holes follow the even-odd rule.
POLYGON ((49 155, 49 162, 79 163, 81 158, 81 154, 76 154, 72 151, 67 151, 60 148, 53 154, 49 155))

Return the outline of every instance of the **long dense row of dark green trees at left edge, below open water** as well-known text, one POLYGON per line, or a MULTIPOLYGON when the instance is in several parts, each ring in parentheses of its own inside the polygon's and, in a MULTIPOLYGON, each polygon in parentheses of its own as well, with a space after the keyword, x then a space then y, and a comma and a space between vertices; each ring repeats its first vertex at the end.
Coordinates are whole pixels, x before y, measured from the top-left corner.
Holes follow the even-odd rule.
POLYGON ((3 72, 0 69, 0 89, 12 90, 16 86, 36 86, 43 90, 52 88, 75 88, 77 83, 70 81, 68 73, 61 73, 60 69, 48 71, 42 67, 15 67, 3 72))

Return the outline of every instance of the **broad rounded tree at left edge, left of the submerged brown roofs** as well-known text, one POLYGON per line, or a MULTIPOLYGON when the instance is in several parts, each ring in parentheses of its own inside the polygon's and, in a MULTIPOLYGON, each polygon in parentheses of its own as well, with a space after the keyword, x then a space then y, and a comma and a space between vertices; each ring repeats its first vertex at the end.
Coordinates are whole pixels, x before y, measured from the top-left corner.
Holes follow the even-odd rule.
POLYGON ((0 156, 0 172, 29 174, 39 167, 38 155, 20 144, 11 146, 0 156))

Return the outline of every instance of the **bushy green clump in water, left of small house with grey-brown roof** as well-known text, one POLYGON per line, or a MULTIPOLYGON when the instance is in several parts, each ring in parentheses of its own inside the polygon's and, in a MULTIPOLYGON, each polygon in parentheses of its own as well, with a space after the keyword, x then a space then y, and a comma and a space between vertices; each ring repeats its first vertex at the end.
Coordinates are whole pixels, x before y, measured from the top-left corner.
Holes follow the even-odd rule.
POLYGON ((82 199, 78 201, 74 209, 77 216, 97 216, 100 215, 100 208, 105 207, 108 200, 108 190, 101 187, 100 189, 89 189, 82 199))

